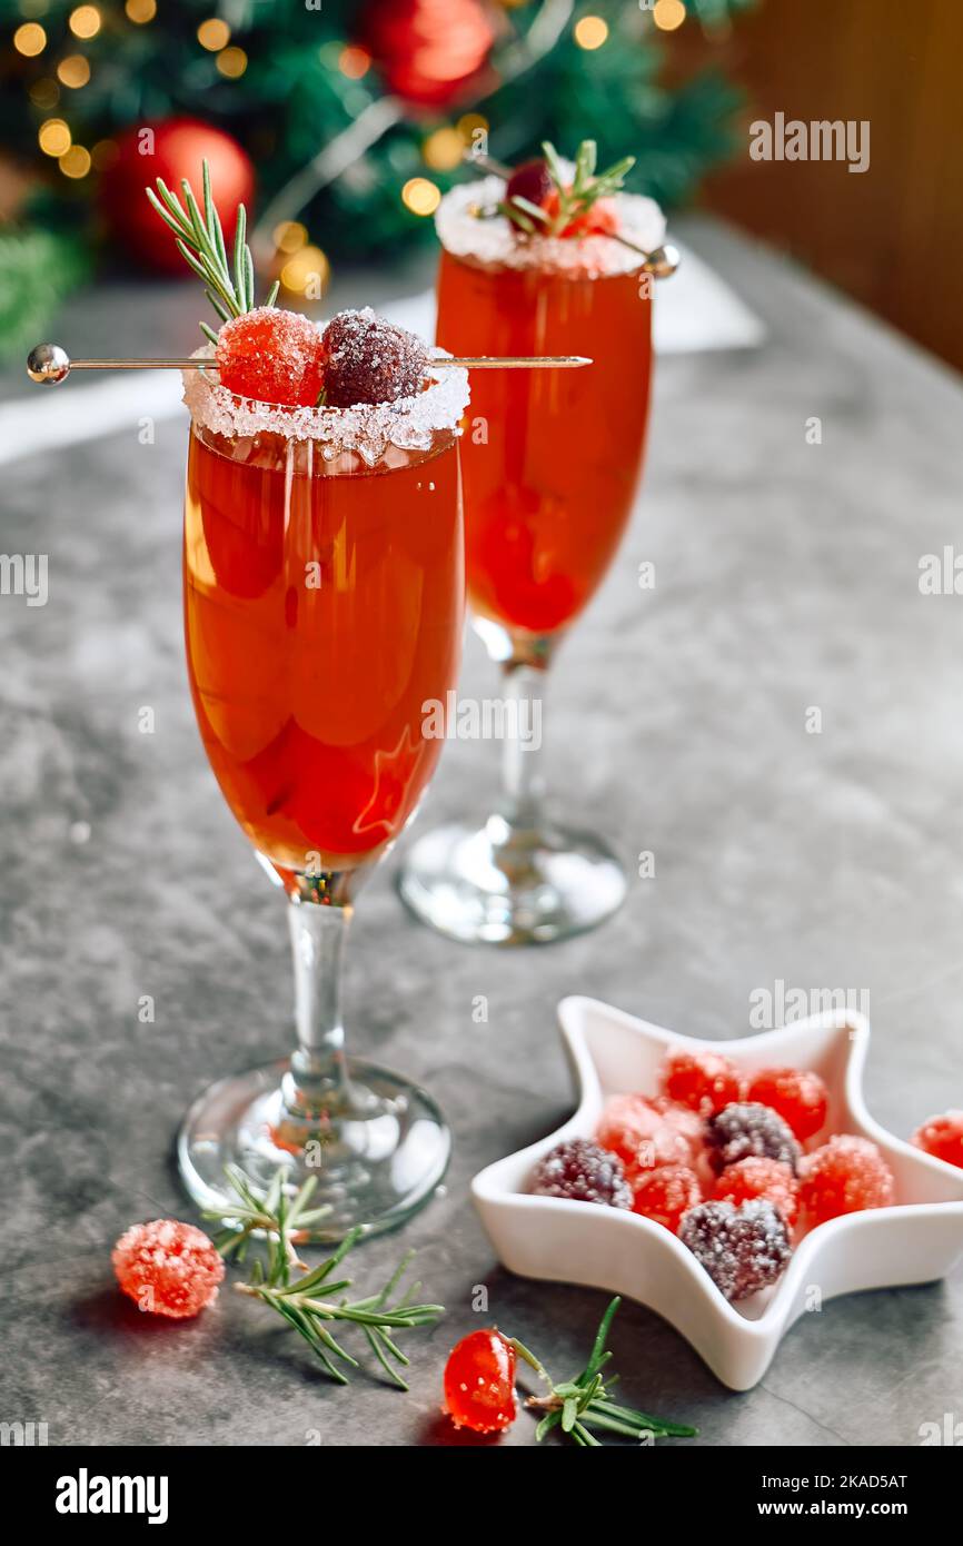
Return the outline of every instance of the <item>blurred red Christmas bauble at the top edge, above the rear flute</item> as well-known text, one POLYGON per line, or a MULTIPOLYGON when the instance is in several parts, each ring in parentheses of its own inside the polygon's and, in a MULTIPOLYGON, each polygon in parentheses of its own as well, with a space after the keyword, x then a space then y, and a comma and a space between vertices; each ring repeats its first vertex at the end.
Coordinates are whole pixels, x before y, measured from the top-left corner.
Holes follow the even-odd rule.
POLYGON ((441 108, 481 74, 495 31, 481 0, 369 0, 362 42, 390 91, 441 108))

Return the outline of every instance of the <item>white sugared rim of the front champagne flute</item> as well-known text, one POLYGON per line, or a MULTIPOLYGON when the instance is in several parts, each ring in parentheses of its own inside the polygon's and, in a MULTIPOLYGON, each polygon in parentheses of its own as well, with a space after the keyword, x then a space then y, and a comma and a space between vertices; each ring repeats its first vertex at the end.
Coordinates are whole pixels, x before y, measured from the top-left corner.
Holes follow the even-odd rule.
MULTIPOLYGON (((431 360, 447 357, 445 349, 428 352, 431 360)), ((195 349, 192 359, 213 359, 213 345, 195 349)), ((388 445, 428 451, 436 434, 458 428, 470 397, 468 373, 456 365, 430 369, 430 377, 431 385, 424 391, 396 402, 297 408, 241 397, 206 369, 182 373, 184 402, 195 425, 230 439, 269 433, 289 441, 320 441, 328 461, 343 451, 357 451, 369 467, 382 459, 388 445)))

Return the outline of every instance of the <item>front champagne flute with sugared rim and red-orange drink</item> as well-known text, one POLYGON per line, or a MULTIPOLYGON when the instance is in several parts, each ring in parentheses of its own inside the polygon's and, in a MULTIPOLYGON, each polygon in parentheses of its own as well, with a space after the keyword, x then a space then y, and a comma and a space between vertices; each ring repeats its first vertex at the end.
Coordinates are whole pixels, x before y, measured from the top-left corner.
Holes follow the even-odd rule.
POLYGON ((181 1175, 230 1217, 315 1177, 315 1238, 393 1228, 441 1181, 450 1133, 416 1084, 345 1053, 340 976, 360 884, 411 818, 441 741, 464 620, 464 371, 400 404, 280 408, 185 376, 190 688, 221 792, 288 897, 297 1048, 207 1088, 181 1175))

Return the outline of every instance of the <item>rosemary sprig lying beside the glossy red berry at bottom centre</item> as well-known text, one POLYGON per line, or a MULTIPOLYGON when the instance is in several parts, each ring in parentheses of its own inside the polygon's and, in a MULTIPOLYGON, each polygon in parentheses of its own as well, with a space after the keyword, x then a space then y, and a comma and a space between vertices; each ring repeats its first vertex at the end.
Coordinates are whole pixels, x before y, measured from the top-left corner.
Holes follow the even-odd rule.
POLYGON ((620 1438, 640 1441, 643 1438, 692 1438, 699 1430, 683 1422, 668 1422, 654 1418, 648 1411, 637 1411, 634 1407, 620 1407, 611 1399, 612 1385, 618 1376, 603 1376, 603 1368, 612 1354, 606 1351, 609 1328, 621 1300, 614 1299, 601 1317, 595 1334, 592 1354, 575 1379, 566 1379, 560 1385, 552 1381, 546 1367, 535 1354, 512 1337, 512 1347, 539 1379, 549 1387, 547 1396, 529 1396, 526 1405, 544 1416, 535 1429, 535 1438, 541 1442, 552 1429, 561 1429, 575 1444, 583 1449, 601 1449, 600 1441, 592 1433, 598 1429, 606 1433, 617 1433, 620 1438))

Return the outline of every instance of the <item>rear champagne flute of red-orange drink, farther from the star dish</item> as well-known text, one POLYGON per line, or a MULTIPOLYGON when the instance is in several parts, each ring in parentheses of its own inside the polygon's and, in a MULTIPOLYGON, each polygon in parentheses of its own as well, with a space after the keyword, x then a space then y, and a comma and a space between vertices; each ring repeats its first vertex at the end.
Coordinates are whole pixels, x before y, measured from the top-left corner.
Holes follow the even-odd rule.
MULTIPOLYGON (((566 938, 609 917, 626 875, 592 833, 546 815, 541 697, 555 649, 601 583, 641 467, 651 377, 651 274, 606 238, 532 237, 476 210, 499 179, 439 212, 439 342, 456 354, 583 354, 577 371, 485 371, 464 444, 473 625, 501 663, 502 798, 479 824, 422 836, 400 877, 407 904, 464 942, 566 938)), ((623 232, 658 247, 651 199, 620 195, 623 232)), ((573 767, 586 756, 580 748, 573 767)))

